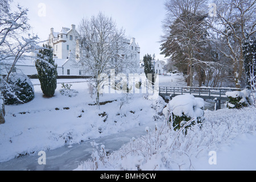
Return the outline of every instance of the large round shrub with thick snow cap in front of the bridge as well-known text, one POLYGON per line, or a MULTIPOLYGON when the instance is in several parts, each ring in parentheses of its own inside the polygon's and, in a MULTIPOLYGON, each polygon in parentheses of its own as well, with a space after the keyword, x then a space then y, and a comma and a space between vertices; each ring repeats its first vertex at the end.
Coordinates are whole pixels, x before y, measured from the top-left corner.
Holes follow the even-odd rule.
POLYGON ((172 98, 163 114, 168 119, 171 129, 180 130, 185 124, 185 133, 188 127, 204 121, 204 100, 193 95, 181 95, 172 98))

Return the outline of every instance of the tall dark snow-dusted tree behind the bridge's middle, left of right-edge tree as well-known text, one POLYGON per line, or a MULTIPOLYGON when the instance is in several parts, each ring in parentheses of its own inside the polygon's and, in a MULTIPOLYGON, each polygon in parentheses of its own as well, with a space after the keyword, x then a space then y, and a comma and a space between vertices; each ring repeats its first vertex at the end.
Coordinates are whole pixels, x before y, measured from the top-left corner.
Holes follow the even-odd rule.
MULTIPOLYGON (((187 83, 193 85, 194 65, 204 64, 201 60, 207 45, 207 18, 205 0, 168 0, 165 4, 167 15, 163 22, 165 35, 162 37, 162 53, 173 60, 187 64, 187 83)), ((195 65, 196 66, 196 65, 195 65)), ((201 72, 200 67, 197 70, 201 72)))

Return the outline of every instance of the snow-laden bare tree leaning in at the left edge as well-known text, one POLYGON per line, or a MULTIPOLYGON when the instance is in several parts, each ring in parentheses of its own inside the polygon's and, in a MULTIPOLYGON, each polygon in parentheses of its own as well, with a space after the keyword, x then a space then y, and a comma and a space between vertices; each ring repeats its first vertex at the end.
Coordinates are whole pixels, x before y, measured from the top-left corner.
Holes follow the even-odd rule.
MULTIPOLYGON (((7 79, 17 61, 25 53, 33 51, 38 43, 38 36, 32 36, 28 33, 31 29, 28 24, 27 11, 21 6, 17 6, 17 10, 11 10, 12 0, 0 1, 0 64, 3 61, 9 61, 11 68, 9 69, 7 79)), ((4 123, 5 107, 0 92, 0 123, 4 123)))

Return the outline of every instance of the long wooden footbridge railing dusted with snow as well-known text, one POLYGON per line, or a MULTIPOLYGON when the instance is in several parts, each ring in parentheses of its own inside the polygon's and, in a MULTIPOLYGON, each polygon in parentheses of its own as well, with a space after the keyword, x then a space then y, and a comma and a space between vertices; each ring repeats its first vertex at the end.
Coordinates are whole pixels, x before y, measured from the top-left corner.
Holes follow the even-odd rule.
POLYGON ((226 98, 226 92, 240 91, 237 88, 209 88, 189 86, 159 86, 159 94, 175 97, 177 95, 192 94, 204 98, 226 98))

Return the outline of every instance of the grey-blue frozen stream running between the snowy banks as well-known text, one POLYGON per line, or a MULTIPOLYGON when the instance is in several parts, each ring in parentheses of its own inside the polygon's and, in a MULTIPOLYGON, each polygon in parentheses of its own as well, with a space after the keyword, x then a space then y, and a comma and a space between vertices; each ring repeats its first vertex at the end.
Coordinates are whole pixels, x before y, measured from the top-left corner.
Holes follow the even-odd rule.
MULTIPOLYGON (((154 123, 147 125, 155 127, 154 123)), ((46 165, 38 164, 38 154, 20 156, 7 162, 0 163, 0 171, 71 171, 79 164, 89 159, 92 154, 91 142, 105 145, 106 151, 115 151, 123 144, 130 142, 131 138, 146 135, 144 126, 139 126, 125 132, 109 135, 98 139, 90 139, 72 147, 64 146, 55 150, 46 151, 46 165)), ((100 146, 99 146, 100 147, 100 146)))

